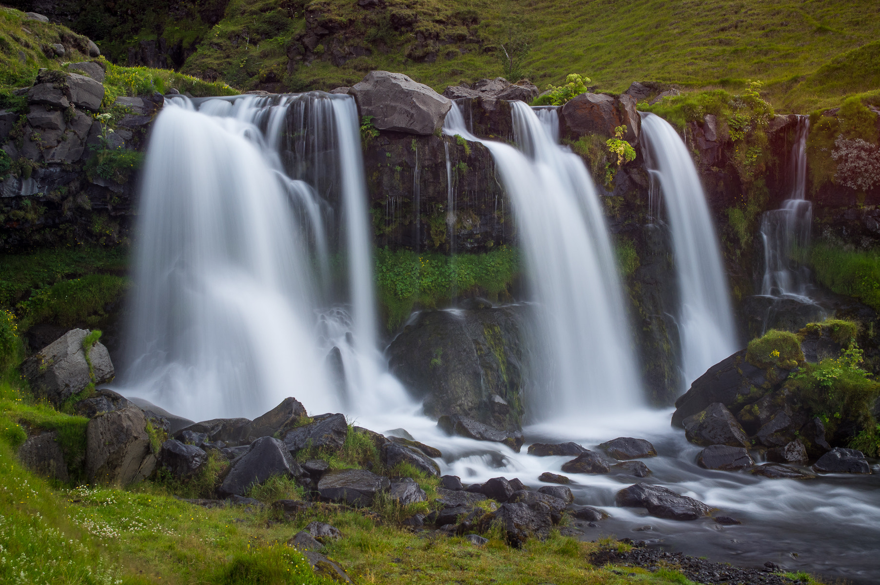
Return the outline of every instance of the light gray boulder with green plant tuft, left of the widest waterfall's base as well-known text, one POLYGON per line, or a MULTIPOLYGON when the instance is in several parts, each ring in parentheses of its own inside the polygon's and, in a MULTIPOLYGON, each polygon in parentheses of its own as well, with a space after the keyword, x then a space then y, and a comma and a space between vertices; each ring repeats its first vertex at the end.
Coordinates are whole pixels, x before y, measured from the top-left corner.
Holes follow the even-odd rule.
POLYGON ((89 348, 90 375, 83 347, 89 333, 92 332, 88 329, 71 329, 22 364, 21 371, 34 394, 61 406, 64 400, 83 391, 88 384, 101 384, 114 377, 110 354, 97 341, 89 348))

